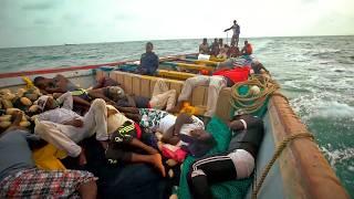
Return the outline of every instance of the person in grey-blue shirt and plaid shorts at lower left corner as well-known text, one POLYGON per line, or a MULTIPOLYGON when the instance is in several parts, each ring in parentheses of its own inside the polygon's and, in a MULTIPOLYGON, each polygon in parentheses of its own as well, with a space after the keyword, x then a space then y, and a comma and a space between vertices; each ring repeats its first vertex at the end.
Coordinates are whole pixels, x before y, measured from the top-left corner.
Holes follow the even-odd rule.
POLYGON ((96 178, 87 171, 49 171, 35 167, 30 144, 34 135, 19 126, 23 114, 0 134, 0 198, 96 198, 96 178))

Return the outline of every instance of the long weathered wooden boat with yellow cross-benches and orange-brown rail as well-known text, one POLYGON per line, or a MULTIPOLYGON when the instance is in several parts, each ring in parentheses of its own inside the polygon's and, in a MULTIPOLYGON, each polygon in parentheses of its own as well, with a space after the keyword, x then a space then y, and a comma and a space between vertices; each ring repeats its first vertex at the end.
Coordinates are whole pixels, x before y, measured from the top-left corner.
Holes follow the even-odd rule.
MULTIPOLYGON (((162 61, 177 63, 180 59, 185 59, 185 56, 169 56, 162 59, 162 61)), ((90 87, 100 77, 110 76, 121 83, 127 93, 150 97, 156 77, 113 70, 117 65, 127 63, 131 62, 2 73, 0 74, 0 88, 17 90, 23 86, 21 76, 53 77, 60 73, 81 87, 90 87)), ((160 76, 167 77, 169 87, 179 93, 184 84, 183 80, 194 76, 194 74, 162 70, 160 76), (173 80, 174 77, 177 80, 173 80)), ((207 87, 198 86, 194 90, 191 105, 206 106, 207 96, 207 87)), ((223 88, 219 94, 216 115, 223 121, 230 118, 230 109, 232 108, 230 97, 230 87, 223 88)), ((309 133, 305 125, 300 122, 290 107, 288 100, 281 94, 270 97, 263 121, 267 133, 257 158, 256 176, 258 180, 279 145, 291 136, 309 133)), ((252 191, 250 188, 247 198, 251 197, 252 191)), ((323 157, 316 143, 309 138, 299 138, 290 142, 270 167, 270 171, 258 192, 258 198, 332 199, 348 198, 348 195, 323 157)))

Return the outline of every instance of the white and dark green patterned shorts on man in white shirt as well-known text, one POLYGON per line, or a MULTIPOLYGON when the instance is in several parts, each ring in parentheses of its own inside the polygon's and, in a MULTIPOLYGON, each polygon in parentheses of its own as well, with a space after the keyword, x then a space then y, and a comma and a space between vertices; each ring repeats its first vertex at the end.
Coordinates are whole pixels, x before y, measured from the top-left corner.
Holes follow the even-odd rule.
POLYGON ((167 112, 153 108, 139 108, 139 114, 142 115, 139 125, 146 133, 153 133, 158 127, 162 118, 168 115, 167 112))

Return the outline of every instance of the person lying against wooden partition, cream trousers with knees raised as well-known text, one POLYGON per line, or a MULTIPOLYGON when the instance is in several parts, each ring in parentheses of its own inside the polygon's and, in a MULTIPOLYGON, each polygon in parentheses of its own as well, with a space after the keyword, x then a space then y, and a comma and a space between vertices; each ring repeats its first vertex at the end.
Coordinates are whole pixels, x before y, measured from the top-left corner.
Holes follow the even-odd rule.
POLYGON ((108 104, 121 107, 138 107, 138 108, 155 108, 170 111, 176 104, 176 90, 168 90, 166 82, 158 78, 155 83, 152 98, 144 96, 129 95, 119 86, 108 86, 97 90, 106 98, 108 104))

